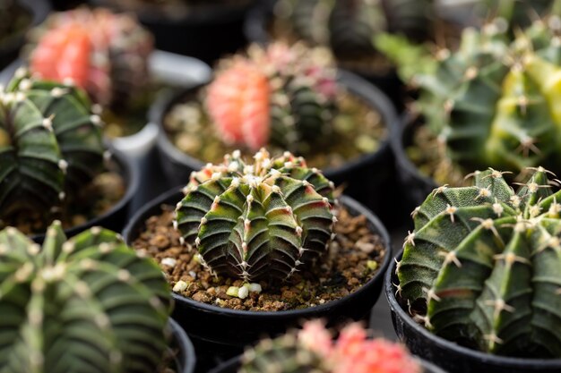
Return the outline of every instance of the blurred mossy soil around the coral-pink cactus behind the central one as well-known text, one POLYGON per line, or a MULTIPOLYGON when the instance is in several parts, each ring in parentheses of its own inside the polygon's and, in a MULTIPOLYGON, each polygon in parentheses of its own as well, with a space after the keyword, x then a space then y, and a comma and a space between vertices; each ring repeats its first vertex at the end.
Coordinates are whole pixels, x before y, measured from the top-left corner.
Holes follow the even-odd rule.
MULTIPOLYGON (((239 149, 242 155, 252 157, 251 149, 239 145, 226 145, 220 140, 217 130, 203 106, 202 96, 191 94, 183 103, 173 106, 164 118, 168 138, 182 152, 203 162, 220 163, 225 153, 239 149)), ((386 124, 382 116, 359 97, 340 88, 337 97, 338 114, 332 119, 332 134, 325 144, 300 152, 306 163, 318 168, 340 167, 353 158, 374 153, 387 137, 386 124)), ((273 156, 281 155, 285 148, 267 145, 273 156)))

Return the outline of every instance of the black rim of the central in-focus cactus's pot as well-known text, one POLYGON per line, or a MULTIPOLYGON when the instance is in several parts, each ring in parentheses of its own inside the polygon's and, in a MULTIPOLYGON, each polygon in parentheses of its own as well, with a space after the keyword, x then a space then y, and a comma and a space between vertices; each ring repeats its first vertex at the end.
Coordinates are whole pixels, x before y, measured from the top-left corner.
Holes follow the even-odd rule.
MULTIPOLYGON (((139 209, 133 216, 132 219, 129 220, 129 223, 125 226, 123 230, 123 237, 125 242, 130 245, 132 243, 132 235, 134 234, 133 230, 138 225, 139 222, 144 223, 144 221, 151 216, 151 210, 154 208, 158 208, 160 204, 164 203, 166 200, 170 199, 171 197, 183 193, 181 192, 181 188, 176 187, 173 188, 163 194, 161 194, 158 198, 152 199, 148 202, 143 208, 139 209)), ((205 312, 212 313, 212 314, 221 314, 226 317, 251 317, 263 320, 275 320, 277 318, 283 317, 290 317, 294 318, 295 316, 301 316, 305 318, 307 314, 315 314, 321 311, 329 311, 332 307, 340 302, 344 302, 351 297, 362 293, 367 292, 367 290, 374 286, 380 279, 384 279, 384 273, 390 265, 390 260, 392 259, 392 242, 390 240, 390 235, 385 229, 385 226, 382 224, 380 219, 378 219, 375 214, 364 207, 361 203, 357 200, 352 199, 348 196, 341 196, 340 202, 343 206, 350 208, 354 211, 358 211, 360 215, 364 215, 367 217, 368 222, 371 225, 374 225, 374 231, 378 234, 383 242, 385 248, 385 255, 380 267, 378 268, 378 272, 375 276, 372 276, 367 283, 360 286, 355 292, 351 292, 348 295, 345 295, 339 299, 333 301, 327 301, 324 304, 319 304, 313 307, 308 307, 306 309, 289 309, 289 310, 280 310, 280 311, 251 311, 251 310, 239 310, 239 309, 229 309, 229 308, 221 308, 219 306, 214 306, 212 304, 203 303, 201 301, 194 301, 193 299, 184 297, 182 295, 177 294, 176 292, 172 292, 173 299, 178 302, 186 303, 190 307, 194 309, 202 309, 205 312)))

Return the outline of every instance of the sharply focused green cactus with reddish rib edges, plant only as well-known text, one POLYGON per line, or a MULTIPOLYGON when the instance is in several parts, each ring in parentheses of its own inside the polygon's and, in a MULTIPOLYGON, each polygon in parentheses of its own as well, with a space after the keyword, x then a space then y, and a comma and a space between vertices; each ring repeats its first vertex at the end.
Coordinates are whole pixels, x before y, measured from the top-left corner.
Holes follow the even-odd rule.
POLYGON ((235 151, 194 172, 175 225, 217 274, 285 279, 327 250, 333 184, 288 152, 271 158, 262 149, 254 158, 246 164, 235 151))

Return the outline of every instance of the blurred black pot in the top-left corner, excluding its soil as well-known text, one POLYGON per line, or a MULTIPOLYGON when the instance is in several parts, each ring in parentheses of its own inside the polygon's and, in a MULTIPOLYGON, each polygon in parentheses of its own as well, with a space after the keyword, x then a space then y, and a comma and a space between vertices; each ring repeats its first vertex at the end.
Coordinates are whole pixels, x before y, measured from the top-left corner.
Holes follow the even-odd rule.
POLYGON ((30 12, 30 25, 26 30, 22 30, 4 40, 3 43, 0 43, 0 69, 3 69, 18 57, 20 49, 25 43, 27 31, 45 21, 48 13, 51 11, 51 5, 48 0, 18 0, 17 3, 30 12))

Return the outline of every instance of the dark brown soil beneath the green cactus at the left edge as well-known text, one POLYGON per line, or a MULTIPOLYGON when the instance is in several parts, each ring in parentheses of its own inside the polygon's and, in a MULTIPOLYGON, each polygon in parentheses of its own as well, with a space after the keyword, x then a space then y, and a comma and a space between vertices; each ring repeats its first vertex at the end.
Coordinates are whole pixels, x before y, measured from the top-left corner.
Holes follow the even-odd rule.
POLYGON ((3 219, 0 229, 14 226, 22 233, 44 233, 53 220, 62 222, 64 229, 82 225, 96 216, 101 216, 125 196, 126 183, 115 162, 108 163, 103 173, 65 201, 59 209, 43 215, 38 210, 18 208, 3 219))

